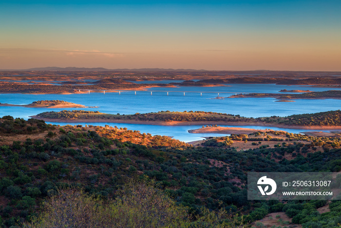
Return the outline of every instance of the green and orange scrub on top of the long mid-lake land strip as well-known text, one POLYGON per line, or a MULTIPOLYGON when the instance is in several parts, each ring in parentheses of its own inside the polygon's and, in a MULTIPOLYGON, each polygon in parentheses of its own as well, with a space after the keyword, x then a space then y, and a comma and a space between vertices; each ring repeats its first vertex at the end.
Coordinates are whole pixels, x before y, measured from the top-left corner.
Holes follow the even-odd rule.
POLYGON ((135 113, 133 115, 105 114, 98 111, 60 111, 43 112, 35 116, 38 119, 59 119, 59 120, 115 120, 125 121, 154 121, 154 122, 234 122, 252 124, 280 124, 294 126, 341 126, 341 111, 327 111, 313 114, 299 114, 286 117, 259 117, 247 118, 240 115, 226 113, 204 112, 204 111, 184 111, 170 112, 160 111, 146 114, 135 113))

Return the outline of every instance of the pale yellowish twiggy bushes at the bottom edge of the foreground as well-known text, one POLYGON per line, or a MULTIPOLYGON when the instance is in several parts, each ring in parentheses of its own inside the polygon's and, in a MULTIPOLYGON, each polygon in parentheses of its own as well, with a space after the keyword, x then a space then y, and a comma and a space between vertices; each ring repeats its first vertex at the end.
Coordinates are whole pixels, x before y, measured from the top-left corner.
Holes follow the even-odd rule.
POLYGON ((104 201, 79 189, 59 189, 47 198, 43 211, 24 228, 228 228, 240 227, 243 219, 221 209, 202 209, 202 215, 189 216, 154 181, 133 180, 118 191, 116 200, 104 201))

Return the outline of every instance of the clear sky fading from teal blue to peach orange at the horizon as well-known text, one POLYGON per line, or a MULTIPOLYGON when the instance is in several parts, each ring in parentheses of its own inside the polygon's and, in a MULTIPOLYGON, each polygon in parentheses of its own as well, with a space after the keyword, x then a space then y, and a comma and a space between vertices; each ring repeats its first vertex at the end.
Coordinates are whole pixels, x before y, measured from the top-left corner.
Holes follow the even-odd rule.
POLYGON ((341 0, 0 0, 0 69, 341 71, 341 0))

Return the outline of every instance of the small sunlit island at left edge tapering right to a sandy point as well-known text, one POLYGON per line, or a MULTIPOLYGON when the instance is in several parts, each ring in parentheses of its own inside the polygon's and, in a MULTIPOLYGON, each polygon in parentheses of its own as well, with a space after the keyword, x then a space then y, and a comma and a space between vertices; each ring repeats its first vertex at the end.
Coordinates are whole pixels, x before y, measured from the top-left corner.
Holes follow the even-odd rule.
POLYGON ((79 108, 88 108, 88 107, 98 107, 98 106, 85 106, 78 105, 71 102, 59 101, 59 100, 44 100, 44 101, 34 101, 28 105, 12 105, 12 104, 1 104, 0 106, 21 106, 21 107, 46 107, 46 108, 70 108, 70 107, 79 107, 79 108))

